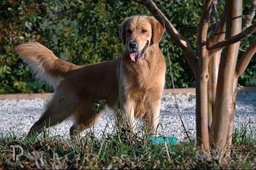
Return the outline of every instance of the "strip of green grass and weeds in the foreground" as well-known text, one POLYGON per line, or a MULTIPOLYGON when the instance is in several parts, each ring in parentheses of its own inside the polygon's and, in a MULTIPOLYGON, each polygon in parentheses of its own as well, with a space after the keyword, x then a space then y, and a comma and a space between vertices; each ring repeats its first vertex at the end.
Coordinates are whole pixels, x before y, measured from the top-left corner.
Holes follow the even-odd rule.
POLYGON ((255 169, 255 139, 241 127, 234 131, 231 158, 226 163, 196 154, 195 142, 176 146, 152 144, 146 137, 122 132, 102 139, 51 137, 0 137, 0 168, 6 169, 255 169), (19 163, 12 162, 5 146, 18 140, 26 145, 19 163), (200 159, 199 159, 200 158, 200 159))

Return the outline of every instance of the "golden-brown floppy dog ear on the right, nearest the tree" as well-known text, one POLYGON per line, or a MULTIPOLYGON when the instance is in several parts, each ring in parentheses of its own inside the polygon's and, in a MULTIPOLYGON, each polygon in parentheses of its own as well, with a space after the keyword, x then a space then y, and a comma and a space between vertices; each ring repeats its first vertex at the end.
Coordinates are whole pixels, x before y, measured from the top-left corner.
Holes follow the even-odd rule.
POLYGON ((151 20, 151 28, 152 28, 152 37, 151 43, 159 43, 164 35, 164 27, 156 20, 153 16, 149 17, 151 20))

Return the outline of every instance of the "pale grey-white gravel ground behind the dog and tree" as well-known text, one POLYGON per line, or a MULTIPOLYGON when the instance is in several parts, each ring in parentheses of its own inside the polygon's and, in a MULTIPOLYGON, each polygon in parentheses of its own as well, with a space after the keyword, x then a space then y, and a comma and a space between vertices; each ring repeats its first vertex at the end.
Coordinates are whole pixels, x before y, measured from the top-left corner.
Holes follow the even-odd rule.
MULTIPOLYGON (((177 103, 185 127, 192 138, 195 138, 195 95, 178 94, 177 103)), ((8 135, 12 131, 16 135, 26 134, 31 125, 44 112, 44 104, 47 100, 35 98, 33 100, 0 100, 0 135, 8 135)), ((113 114, 106 110, 106 114, 91 129, 96 137, 101 137, 104 129, 107 133, 113 131, 113 114)), ((140 124, 140 123, 138 123, 140 124)), ((173 94, 165 94, 162 98, 160 113, 159 132, 165 136, 174 136, 178 140, 184 140, 186 135, 181 126, 173 94)), ((238 102, 235 113, 235 127, 243 124, 249 124, 255 132, 256 129, 256 93, 238 93, 238 102)), ((71 120, 67 120, 50 131, 53 135, 69 135, 69 127, 72 125, 71 120)), ((255 137, 255 134, 254 134, 255 137)))

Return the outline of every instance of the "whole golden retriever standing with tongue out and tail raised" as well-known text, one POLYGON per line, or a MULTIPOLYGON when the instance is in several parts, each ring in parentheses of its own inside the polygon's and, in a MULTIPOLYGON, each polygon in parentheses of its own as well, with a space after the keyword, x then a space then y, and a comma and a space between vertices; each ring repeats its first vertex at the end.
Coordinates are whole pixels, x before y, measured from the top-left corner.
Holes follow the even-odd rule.
POLYGON ((160 99, 164 89, 166 63, 158 47, 164 34, 161 24, 150 16, 132 16, 119 28, 126 45, 116 60, 76 66, 61 60, 40 43, 24 43, 16 52, 34 75, 55 89, 44 114, 28 135, 39 134, 73 116, 70 135, 91 127, 102 115, 96 104, 104 101, 131 130, 135 117, 143 119, 156 135, 160 99), (121 110, 118 112, 118 110, 121 110), (119 114, 118 114, 119 113, 119 114))

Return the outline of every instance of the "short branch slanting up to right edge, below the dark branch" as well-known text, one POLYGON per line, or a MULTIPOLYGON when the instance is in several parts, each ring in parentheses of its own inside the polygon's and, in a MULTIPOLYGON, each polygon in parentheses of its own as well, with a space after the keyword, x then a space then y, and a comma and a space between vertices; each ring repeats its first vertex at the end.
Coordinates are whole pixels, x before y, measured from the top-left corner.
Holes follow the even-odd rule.
POLYGON ((255 53, 256 53, 256 39, 254 39, 254 41, 251 43, 249 48, 241 56, 241 60, 236 66, 237 77, 240 77, 240 75, 243 74, 243 72, 247 68, 249 62, 251 61, 251 58, 253 58, 255 53))

